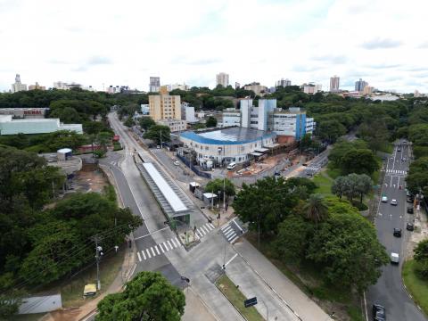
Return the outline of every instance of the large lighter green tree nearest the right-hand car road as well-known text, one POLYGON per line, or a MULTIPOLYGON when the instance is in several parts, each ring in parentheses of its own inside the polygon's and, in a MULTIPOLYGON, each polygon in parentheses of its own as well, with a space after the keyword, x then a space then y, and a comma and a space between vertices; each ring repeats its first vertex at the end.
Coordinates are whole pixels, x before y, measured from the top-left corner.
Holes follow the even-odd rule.
POLYGON ((374 226, 348 202, 326 200, 329 218, 320 223, 310 241, 307 259, 319 264, 325 281, 365 291, 389 262, 374 226))

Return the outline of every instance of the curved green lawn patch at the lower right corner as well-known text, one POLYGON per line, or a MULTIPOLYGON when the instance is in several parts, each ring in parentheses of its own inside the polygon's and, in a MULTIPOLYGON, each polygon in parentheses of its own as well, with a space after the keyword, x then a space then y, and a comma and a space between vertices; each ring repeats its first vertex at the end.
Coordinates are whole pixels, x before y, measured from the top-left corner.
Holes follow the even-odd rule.
POLYGON ((407 290, 412 294, 413 300, 428 314, 428 281, 416 275, 416 261, 407 260, 403 265, 402 276, 407 290))

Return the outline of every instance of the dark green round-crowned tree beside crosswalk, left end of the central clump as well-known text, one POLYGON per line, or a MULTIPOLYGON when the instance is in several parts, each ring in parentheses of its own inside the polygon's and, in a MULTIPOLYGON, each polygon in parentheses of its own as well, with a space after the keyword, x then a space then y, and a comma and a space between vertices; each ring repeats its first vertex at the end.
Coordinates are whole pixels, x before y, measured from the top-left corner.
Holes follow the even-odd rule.
POLYGON ((243 184, 232 204, 235 213, 243 222, 249 222, 253 231, 260 228, 261 233, 276 232, 278 224, 298 202, 284 183, 283 177, 265 177, 252 185, 243 184))

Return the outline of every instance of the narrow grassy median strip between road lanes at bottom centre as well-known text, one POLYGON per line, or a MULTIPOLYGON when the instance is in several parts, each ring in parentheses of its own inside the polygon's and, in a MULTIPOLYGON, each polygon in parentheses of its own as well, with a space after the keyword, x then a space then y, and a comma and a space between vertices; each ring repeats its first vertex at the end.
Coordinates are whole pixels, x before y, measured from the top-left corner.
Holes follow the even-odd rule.
POLYGON ((237 309, 248 321, 264 320, 256 308, 245 308, 243 301, 249 298, 245 298, 243 293, 238 290, 236 285, 226 275, 220 276, 216 285, 218 290, 225 294, 227 300, 229 300, 235 306, 235 309, 237 309))

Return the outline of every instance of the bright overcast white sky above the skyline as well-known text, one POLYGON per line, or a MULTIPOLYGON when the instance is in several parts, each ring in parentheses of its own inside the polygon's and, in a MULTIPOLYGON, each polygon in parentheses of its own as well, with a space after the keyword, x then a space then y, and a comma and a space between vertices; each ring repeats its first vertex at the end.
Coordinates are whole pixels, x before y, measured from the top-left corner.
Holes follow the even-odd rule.
POLYGON ((0 0, 0 90, 75 81, 274 86, 329 78, 428 93, 427 0, 0 0))

